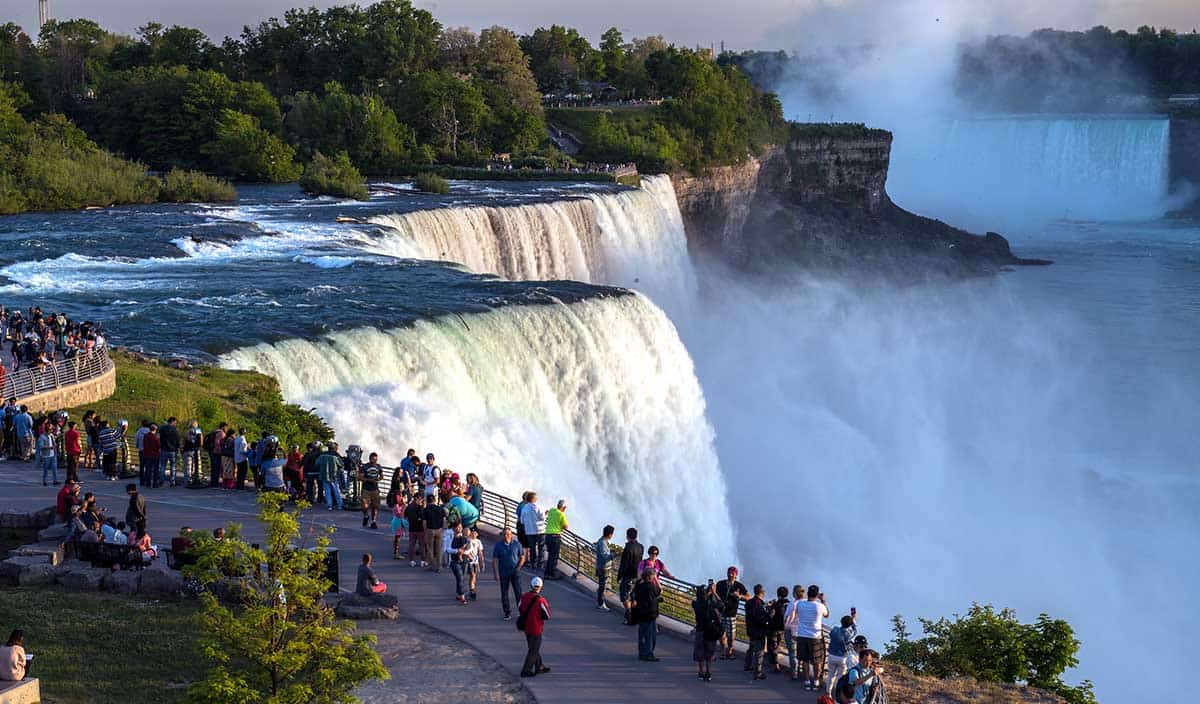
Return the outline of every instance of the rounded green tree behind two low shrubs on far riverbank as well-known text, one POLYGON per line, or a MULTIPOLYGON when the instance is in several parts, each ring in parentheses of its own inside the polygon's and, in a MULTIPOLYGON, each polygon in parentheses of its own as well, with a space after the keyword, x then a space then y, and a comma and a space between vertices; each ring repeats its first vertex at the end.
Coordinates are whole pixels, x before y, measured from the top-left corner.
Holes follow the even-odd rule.
POLYGON ((216 173, 240 181, 283 183, 295 181, 302 172, 292 145, 263 130, 256 118, 236 110, 221 113, 216 138, 200 152, 216 173))

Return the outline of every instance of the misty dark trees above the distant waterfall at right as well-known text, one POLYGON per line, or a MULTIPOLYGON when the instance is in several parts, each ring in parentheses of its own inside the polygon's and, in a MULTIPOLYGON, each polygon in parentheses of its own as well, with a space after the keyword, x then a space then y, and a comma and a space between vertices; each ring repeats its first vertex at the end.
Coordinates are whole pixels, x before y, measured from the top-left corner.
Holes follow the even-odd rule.
POLYGON ((961 47, 955 89, 984 110, 1154 108, 1136 96, 1200 92, 1200 34, 1096 26, 989 37, 961 47))

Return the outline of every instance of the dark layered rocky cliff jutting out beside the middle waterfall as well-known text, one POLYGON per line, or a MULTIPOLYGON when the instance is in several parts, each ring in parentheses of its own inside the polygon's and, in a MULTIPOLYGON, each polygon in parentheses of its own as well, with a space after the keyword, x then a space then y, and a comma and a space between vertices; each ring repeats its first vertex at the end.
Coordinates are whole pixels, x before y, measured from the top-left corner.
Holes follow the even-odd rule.
POLYGON ((788 261, 906 278, 1033 263, 995 233, 972 235, 893 204, 890 151, 882 130, 793 125, 787 145, 760 158, 677 175, 689 245, 746 270, 788 261))

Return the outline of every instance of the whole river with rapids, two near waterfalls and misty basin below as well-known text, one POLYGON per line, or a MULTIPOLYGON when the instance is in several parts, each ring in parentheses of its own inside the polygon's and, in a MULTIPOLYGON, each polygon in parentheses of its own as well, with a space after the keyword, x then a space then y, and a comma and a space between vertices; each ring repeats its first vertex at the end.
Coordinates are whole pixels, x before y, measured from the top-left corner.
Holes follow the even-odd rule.
POLYGON ((666 179, 244 188, 0 219, 0 303, 274 374, 389 462, 572 498, 583 532, 636 524, 692 579, 821 583, 881 645, 894 613, 973 600, 1066 618, 1073 674, 1141 700, 1130 648, 1180 672, 1200 631, 1200 223, 1007 234, 1055 264, 764 284, 689 257, 666 179))

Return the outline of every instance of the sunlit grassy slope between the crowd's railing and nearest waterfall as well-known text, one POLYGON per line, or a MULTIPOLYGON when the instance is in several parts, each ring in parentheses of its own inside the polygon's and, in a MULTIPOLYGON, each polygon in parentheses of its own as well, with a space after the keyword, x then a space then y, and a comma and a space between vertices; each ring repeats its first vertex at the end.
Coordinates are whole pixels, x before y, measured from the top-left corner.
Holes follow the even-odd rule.
POLYGON ((142 419, 166 422, 175 416, 181 429, 197 419, 205 432, 224 421, 244 426, 254 438, 259 432, 275 433, 284 444, 334 437, 320 416, 283 403, 278 383, 264 374, 208 366, 173 369, 120 350, 113 350, 112 356, 116 363, 116 393, 68 409, 72 419, 95 410, 113 421, 128 419, 136 428, 142 419))

